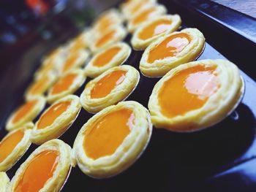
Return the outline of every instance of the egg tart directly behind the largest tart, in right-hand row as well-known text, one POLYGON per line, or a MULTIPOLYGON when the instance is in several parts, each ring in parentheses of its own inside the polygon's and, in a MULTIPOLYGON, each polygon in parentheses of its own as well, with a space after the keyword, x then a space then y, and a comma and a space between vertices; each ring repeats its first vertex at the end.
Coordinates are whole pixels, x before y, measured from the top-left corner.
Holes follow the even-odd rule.
POLYGON ((205 45, 196 28, 173 32, 152 42, 140 59, 140 71, 147 77, 162 77, 170 69, 194 61, 205 45))

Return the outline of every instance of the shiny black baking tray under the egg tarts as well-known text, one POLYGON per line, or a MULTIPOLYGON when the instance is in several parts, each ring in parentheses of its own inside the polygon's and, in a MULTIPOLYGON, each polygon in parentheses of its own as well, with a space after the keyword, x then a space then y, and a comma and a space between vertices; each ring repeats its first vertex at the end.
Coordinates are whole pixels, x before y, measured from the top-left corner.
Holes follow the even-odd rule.
MULTIPOLYGON (((97 180, 86 176, 77 167, 72 169, 62 191, 255 191, 256 190, 256 74, 253 69, 252 53, 255 53, 253 35, 248 32, 256 26, 255 20, 210 1, 159 1, 168 12, 178 13, 183 21, 182 28, 196 27, 206 37, 206 48, 197 60, 228 58, 241 69, 245 93, 235 112, 215 126, 194 133, 173 133, 154 128, 151 141, 143 155, 125 172, 116 177, 97 180), (203 5, 202 5, 203 4, 203 5), (214 7, 214 9, 212 8, 214 7), (219 17, 219 9, 232 13, 230 18, 249 20, 249 28, 238 28, 219 17), (216 12, 214 12, 216 10, 216 12), (235 15, 235 16, 234 16, 235 15), (251 23, 250 23, 251 22, 251 23), (231 26, 231 28, 230 28, 231 26), (244 36, 244 31, 246 36, 244 36), (233 41, 236 40, 236 45, 233 41), (214 45, 212 47, 211 45, 214 45), (241 50, 248 50, 247 52, 241 50), (219 50, 219 51, 218 51, 219 50), (239 53, 239 51, 241 51, 239 53), (239 53, 239 54, 238 54, 239 53)), ((251 30, 253 33, 253 30, 251 30)), ((129 35, 125 42, 129 43, 129 35)), ((48 49, 50 50, 50 49, 48 49)), ((138 69, 143 52, 132 50, 128 61, 138 69)), ((37 61, 36 61, 37 60, 37 61)), ((0 120, 0 138, 4 137, 4 122, 10 112, 23 102, 26 85, 31 82, 39 65, 34 59, 34 69, 23 87, 18 88, 6 104, 0 120)), ((32 66, 31 66, 32 67, 32 66)), ((138 69, 139 70, 139 69, 138 69)), ((89 82, 87 78, 85 84, 89 82)), ((159 78, 148 78, 140 74, 140 82, 127 100, 138 101, 147 107, 148 98, 159 78)), ((6 85, 7 86, 7 85, 6 85)), ((80 96, 84 85, 75 94, 80 96)), ((47 106, 48 107, 48 106, 47 106)), ((80 127, 91 118, 81 110, 75 123, 60 139, 72 146, 80 127)), ((31 145, 18 163, 7 172, 12 177, 20 164, 34 151, 31 145)))

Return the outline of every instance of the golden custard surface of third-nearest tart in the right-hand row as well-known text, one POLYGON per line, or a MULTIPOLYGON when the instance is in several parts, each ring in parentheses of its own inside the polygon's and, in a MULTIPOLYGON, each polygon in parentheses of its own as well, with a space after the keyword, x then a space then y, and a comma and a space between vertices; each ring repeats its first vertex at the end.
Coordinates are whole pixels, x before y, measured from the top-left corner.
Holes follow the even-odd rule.
POLYGON ((146 40, 155 35, 162 34, 170 28, 170 20, 156 20, 154 23, 151 23, 149 26, 140 31, 138 37, 140 39, 146 40))

